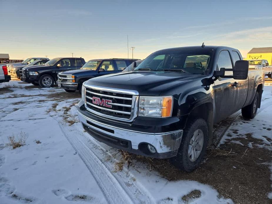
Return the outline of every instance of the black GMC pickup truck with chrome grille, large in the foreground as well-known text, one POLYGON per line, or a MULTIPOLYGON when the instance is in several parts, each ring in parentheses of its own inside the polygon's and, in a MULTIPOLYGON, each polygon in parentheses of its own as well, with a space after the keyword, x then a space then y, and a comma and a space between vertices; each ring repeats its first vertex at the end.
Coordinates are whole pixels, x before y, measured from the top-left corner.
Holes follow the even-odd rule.
POLYGON ((193 46, 156 51, 134 71, 83 83, 83 128, 114 148, 170 158, 190 172, 212 142, 213 124, 242 109, 254 118, 263 70, 249 70, 237 49, 193 46))

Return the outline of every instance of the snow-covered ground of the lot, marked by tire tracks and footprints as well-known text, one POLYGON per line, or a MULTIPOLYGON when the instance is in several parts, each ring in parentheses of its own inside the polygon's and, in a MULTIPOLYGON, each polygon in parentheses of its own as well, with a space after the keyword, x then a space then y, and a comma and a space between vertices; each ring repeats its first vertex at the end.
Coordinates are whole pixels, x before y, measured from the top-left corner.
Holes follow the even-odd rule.
MULTIPOLYGON (((250 130, 252 137, 263 141, 258 147, 272 150, 272 86, 267 85, 256 118, 233 123, 221 144, 239 137, 230 131, 235 128, 241 137, 250 130)), ((20 81, 1 83, 0 93, 1 204, 233 203, 210 185, 169 181, 145 163, 116 170, 121 160, 118 151, 90 137, 78 122, 78 93, 20 81), (8 137, 13 135, 26 136, 26 145, 8 146, 8 137), (194 190, 200 194, 190 196, 194 190)))

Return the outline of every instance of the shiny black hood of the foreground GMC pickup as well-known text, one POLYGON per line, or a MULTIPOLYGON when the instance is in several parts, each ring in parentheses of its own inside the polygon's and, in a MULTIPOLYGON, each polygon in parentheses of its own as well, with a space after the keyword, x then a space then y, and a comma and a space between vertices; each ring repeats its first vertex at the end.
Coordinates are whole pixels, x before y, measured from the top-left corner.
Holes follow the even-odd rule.
POLYGON ((201 74, 187 74, 182 72, 121 72, 89 79, 86 84, 119 89, 136 90, 140 95, 157 96, 181 83, 203 78, 201 74))

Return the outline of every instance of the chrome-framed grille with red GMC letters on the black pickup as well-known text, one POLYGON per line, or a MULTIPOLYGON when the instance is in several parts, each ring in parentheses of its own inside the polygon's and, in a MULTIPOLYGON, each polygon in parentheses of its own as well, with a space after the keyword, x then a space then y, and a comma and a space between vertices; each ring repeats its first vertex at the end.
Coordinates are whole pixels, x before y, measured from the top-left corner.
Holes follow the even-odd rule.
POLYGON ((85 107, 90 113, 120 121, 132 121, 137 116, 137 91, 93 85, 84 85, 84 87, 85 107), (93 101, 94 97, 96 101, 93 101))

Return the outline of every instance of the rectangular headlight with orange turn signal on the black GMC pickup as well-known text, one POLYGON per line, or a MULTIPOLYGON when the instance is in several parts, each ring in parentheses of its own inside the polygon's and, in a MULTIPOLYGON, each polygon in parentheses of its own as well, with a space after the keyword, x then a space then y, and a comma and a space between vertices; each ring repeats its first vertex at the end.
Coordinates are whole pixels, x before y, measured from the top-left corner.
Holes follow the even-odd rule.
POLYGON ((170 117, 172 114, 172 96, 140 96, 139 116, 170 117))

